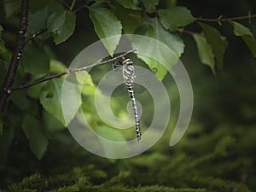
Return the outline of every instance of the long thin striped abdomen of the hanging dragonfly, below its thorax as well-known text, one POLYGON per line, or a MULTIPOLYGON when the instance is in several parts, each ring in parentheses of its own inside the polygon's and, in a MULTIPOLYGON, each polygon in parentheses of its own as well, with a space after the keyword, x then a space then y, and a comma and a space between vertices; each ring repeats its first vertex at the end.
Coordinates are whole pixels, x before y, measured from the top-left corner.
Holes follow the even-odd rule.
POLYGON ((136 101, 135 101, 134 90, 133 90, 133 87, 132 87, 132 83, 125 82, 125 84, 126 84, 126 88, 127 88, 128 92, 131 96, 131 104, 132 104, 135 123, 136 123, 137 141, 139 142, 141 140, 142 133, 141 133, 141 126, 140 126, 140 122, 139 122, 139 118, 138 118, 137 104, 136 104, 136 101))

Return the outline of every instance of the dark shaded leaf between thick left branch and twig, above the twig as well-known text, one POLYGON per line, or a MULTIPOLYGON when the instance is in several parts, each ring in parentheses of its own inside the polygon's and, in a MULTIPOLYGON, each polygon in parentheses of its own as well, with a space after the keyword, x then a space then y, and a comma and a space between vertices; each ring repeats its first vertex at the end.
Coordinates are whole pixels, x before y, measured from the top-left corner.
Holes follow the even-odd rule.
POLYGON ((42 78, 49 74, 49 55, 37 44, 26 44, 20 66, 24 72, 32 74, 34 79, 42 78))

